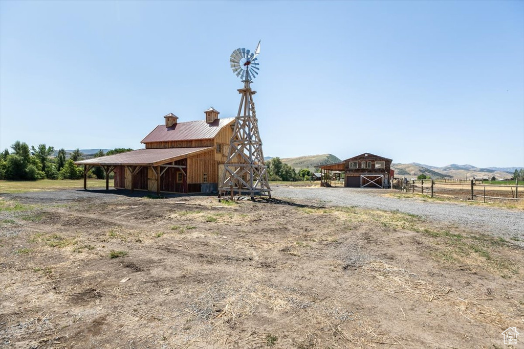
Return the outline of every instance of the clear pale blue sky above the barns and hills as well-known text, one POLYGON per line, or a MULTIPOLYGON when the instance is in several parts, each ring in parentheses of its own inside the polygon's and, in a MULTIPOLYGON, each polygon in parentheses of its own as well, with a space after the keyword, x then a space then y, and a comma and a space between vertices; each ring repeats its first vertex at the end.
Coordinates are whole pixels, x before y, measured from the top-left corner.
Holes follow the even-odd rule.
POLYGON ((0 147, 143 148, 235 116, 261 39, 266 156, 524 165, 524 2, 0 2, 0 147))

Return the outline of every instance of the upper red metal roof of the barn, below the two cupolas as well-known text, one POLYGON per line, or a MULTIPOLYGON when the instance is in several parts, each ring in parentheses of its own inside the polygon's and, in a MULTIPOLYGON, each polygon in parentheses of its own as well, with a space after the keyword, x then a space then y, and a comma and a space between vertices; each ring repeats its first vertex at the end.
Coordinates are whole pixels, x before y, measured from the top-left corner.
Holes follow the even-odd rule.
POLYGON ((141 143, 188 141, 192 139, 215 138, 219 131, 235 121, 235 118, 216 119, 213 122, 205 120, 178 122, 171 127, 158 125, 141 143))

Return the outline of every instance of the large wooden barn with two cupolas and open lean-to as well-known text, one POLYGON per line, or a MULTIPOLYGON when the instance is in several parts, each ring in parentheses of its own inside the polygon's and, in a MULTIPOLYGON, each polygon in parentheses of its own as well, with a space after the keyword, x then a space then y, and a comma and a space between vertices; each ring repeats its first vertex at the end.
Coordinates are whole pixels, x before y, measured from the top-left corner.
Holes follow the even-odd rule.
POLYGON ((204 111, 204 120, 178 122, 172 113, 141 141, 145 149, 96 157, 75 164, 86 175, 93 166, 114 172, 114 187, 167 193, 211 193, 217 191, 227 160, 235 118, 220 119, 214 108, 204 111))

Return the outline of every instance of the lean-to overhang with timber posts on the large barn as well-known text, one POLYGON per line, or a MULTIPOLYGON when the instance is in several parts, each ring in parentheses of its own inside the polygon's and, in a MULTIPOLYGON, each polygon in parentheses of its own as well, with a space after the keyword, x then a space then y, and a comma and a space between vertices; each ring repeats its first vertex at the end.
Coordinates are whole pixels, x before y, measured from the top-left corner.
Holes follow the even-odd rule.
POLYGON ((163 149, 139 149, 130 152, 95 157, 94 159, 75 162, 76 165, 84 165, 84 190, 87 190, 87 175, 94 166, 100 166, 105 172, 105 189, 109 189, 109 174, 114 172, 116 166, 124 166, 131 174, 131 192, 134 191, 133 177, 143 167, 150 167, 156 177, 157 195, 160 195, 160 177, 170 167, 180 168, 184 176, 187 176, 187 166, 175 165, 177 160, 188 156, 205 153, 213 150, 213 147, 199 148, 163 148, 163 149))

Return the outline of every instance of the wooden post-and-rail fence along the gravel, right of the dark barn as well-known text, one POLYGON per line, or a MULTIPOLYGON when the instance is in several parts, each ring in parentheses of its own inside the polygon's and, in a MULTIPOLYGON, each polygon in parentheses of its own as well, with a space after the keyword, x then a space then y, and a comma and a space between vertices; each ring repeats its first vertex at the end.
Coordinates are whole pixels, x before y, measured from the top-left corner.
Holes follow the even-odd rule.
POLYGON ((395 178, 391 183, 393 189, 406 193, 428 195, 430 197, 454 197, 468 200, 524 200, 524 186, 522 185, 496 185, 482 184, 471 179, 468 182, 435 181, 421 179, 408 181, 395 178), (520 192, 520 194, 519 194, 520 192))

